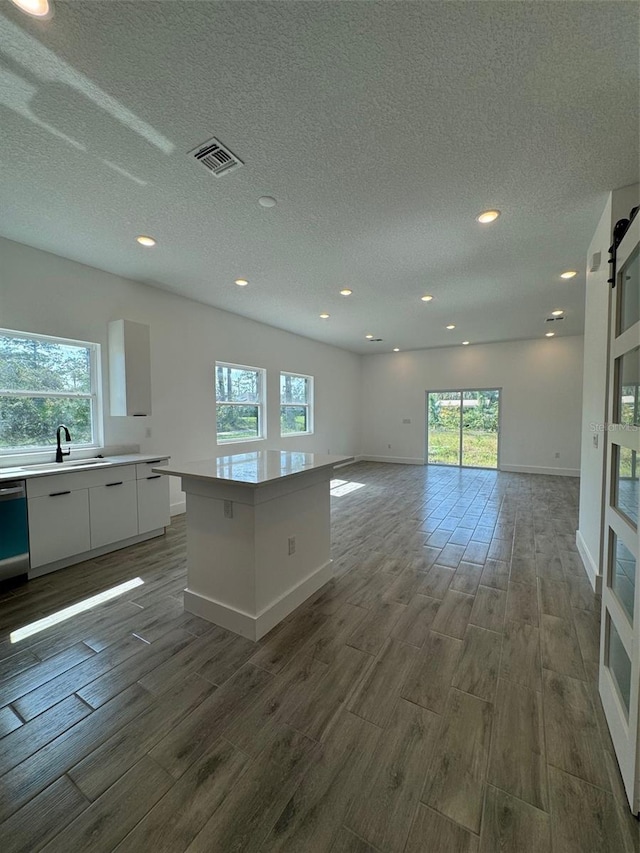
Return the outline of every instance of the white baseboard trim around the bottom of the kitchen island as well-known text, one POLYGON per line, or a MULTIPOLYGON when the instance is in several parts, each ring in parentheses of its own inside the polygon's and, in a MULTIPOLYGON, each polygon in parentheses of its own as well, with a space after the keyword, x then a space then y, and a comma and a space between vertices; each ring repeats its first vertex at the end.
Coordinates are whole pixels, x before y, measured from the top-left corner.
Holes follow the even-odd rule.
POLYGON ((184 609, 221 628, 249 640, 259 640, 333 577, 333 561, 328 560, 313 574, 271 602, 255 616, 216 601, 192 589, 184 591, 184 609))

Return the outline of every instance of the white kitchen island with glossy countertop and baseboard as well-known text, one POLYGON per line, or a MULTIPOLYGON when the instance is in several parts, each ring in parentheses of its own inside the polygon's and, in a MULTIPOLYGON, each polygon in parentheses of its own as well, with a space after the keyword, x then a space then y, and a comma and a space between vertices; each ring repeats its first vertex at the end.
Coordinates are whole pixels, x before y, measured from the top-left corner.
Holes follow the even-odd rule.
POLYGON ((352 461, 258 450, 158 468, 186 492, 185 610, 259 640, 330 580, 329 482, 352 461))

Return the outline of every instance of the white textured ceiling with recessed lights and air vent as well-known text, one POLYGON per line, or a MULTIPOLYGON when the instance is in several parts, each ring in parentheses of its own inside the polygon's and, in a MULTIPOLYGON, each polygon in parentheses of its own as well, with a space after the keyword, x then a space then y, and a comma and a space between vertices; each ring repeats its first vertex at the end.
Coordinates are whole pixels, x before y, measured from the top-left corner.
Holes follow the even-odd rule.
POLYGON ((606 193, 638 180, 636 3, 53 2, 0 0, 3 236, 356 352, 555 308, 581 333, 606 193), (212 136, 245 165, 190 160, 212 136))

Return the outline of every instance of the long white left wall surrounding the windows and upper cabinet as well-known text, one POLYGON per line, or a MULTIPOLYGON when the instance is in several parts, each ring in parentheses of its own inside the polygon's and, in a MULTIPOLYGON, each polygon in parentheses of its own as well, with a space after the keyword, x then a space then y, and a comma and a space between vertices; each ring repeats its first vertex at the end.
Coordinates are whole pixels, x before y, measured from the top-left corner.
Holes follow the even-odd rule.
MULTIPOLYGON (((0 327, 102 345, 104 443, 202 459, 263 448, 355 455, 360 357, 0 238, 0 327), (151 328, 153 414, 108 415, 107 323, 151 328), (267 369, 267 440, 216 446, 214 362, 267 369), (315 433, 280 438, 279 371, 315 377, 315 433), (148 427, 152 437, 145 438, 148 427)), ((174 510, 182 501, 172 478, 174 510)))

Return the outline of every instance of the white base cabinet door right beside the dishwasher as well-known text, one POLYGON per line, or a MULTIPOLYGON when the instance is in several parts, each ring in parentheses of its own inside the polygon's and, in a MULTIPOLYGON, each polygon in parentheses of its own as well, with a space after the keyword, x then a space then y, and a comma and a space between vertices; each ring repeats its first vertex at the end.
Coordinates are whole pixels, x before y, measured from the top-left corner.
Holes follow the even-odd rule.
POLYGON ((31 498, 28 508, 31 568, 90 549, 87 489, 31 498))

